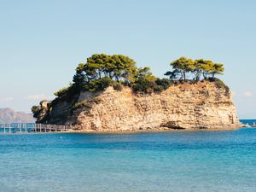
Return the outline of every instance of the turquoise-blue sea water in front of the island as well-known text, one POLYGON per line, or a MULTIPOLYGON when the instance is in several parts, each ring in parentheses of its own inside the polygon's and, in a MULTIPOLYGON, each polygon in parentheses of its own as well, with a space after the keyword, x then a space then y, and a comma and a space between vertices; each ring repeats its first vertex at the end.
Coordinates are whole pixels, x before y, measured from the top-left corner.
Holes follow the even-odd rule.
POLYGON ((0 191, 254 192, 256 128, 0 135, 0 191))

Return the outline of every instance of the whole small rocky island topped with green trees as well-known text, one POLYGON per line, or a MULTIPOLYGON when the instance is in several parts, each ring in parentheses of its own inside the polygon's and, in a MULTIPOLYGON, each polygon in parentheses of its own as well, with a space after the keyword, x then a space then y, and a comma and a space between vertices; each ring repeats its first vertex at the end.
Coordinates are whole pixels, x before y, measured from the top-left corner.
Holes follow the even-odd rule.
POLYGON ((216 78, 223 64, 181 57, 171 67, 168 79, 159 79, 128 56, 92 55, 77 67, 73 84, 32 113, 38 123, 82 131, 241 127, 229 87, 216 78))

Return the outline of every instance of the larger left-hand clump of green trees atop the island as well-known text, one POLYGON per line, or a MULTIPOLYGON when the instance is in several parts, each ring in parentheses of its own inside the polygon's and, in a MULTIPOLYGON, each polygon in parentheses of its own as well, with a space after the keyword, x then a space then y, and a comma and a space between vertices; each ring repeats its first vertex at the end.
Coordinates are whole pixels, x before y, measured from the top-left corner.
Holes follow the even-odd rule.
MULTIPOLYGON (((59 100, 72 102, 82 90, 104 90, 114 82, 131 84, 137 74, 136 62, 125 55, 95 54, 87 58, 85 63, 79 63, 73 76, 73 84, 55 92, 59 100)), ((116 89, 121 90, 119 85, 116 89)))

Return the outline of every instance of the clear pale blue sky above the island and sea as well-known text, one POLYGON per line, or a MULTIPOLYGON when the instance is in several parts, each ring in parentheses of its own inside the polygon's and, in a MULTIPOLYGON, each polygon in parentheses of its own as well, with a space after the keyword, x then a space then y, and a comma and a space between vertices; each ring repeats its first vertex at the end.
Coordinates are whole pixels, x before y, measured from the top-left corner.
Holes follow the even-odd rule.
POLYGON ((29 112, 94 53, 129 55, 157 76, 179 56, 225 65, 240 118, 256 118, 256 1, 0 3, 0 108, 29 112))

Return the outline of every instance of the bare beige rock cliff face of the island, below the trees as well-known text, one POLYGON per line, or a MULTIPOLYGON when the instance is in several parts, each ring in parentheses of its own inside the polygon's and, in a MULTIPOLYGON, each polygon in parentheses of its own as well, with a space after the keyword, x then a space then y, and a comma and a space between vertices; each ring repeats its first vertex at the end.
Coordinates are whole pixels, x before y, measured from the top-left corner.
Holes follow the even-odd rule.
POLYGON ((73 102, 57 103, 49 120, 80 125, 84 131, 235 129, 241 126, 229 90, 214 82, 176 84, 147 95, 134 94, 129 87, 114 90, 110 86, 101 92, 82 92, 76 102, 79 103, 76 108, 73 102), (70 108, 73 108, 72 113, 70 108), (65 114, 63 122, 61 117, 65 114))

